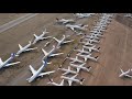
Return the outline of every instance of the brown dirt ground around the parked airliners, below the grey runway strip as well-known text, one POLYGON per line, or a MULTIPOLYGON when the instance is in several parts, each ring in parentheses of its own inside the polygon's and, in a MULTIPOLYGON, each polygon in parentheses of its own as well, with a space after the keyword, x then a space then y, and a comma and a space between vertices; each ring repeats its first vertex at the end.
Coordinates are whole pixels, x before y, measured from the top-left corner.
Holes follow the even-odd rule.
MULTIPOLYGON (((73 43, 67 45, 63 45, 61 50, 57 52, 63 52, 64 54, 61 56, 56 56, 51 58, 52 65, 50 65, 45 70, 57 69, 58 65, 62 65, 66 55, 76 46, 81 36, 75 35, 70 30, 62 26, 55 25, 56 18, 74 18, 69 13, 41 13, 26 22, 23 22, 3 33, 0 34, 0 57, 2 61, 6 61, 11 53, 16 53, 19 50, 18 44, 22 46, 26 45, 30 40, 33 40, 33 34, 40 35, 44 28, 47 29, 52 36, 56 36, 57 38, 62 38, 63 34, 70 35, 69 38, 74 38, 73 43)), ((85 23, 88 24, 88 31, 92 30, 92 26, 96 25, 96 22, 99 19, 99 14, 94 15, 89 19, 77 20, 76 23, 85 23)), ((80 72, 78 78, 85 78, 85 86, 106 86, 106 85, 131 85, 131 79, 121 79, 119 78, 120 69, 128 70, 131 68, 132 62, 132 41, 131 41, 131 29, 122 24, 121 22, 113 19, 113 21, 108 26, 105 32, 105 38, 101 38, 101 43, 98 46, 101 47, 100 53, 94 53, 94 56, 98 55, 98 63, 87 62, 87 65, 91 66, 92 69, 90 73, 86 73, 84 70, 80 72)), ((47 85, 48 78, 44 76, 43 78, 37 78, 35 81, 29 84, 26 78, 31 77, 31 72, 29 70, 29 65, 32 65, 35 69, 37 69, 42 65, 42 57, 44 54, 41 48, 50 52, 54 44, 57 44, 55 41, 44 47, 47 41, 52 38, 41 41, 36 43, 37 50, 32 51, 30 53, 23 53, 20 57, 15 58, 15 61, 20 61, 21 64, 3 68, 0 70, 0 85, 1 86, 50 86, 47 85)), ((79 45, 78 47, 81 47, 79 45)), ((76 52, 72 53, 72 57, 76 56, 76 52)), ((69 65, 69 61, 66 61, 63 64, 63 67, 67 68, 69 65)), ((63 72, 58 70, 55 74, 51 75, 51 78, 54 79, 55 82, 61 82, 61 75, 63 72)), ((67 85, 67 82, 65 82, 67 85)), ((74 84, 77 86, 76 84, 74 84)))

